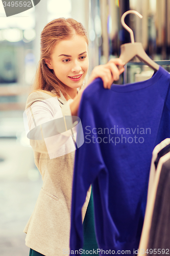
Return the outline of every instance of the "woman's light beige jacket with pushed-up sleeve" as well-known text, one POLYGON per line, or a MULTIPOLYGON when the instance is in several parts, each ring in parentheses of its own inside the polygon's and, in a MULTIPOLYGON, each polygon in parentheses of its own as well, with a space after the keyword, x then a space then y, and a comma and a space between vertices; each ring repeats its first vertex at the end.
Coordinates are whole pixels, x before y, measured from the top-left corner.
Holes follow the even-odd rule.
MULTIPOLYGON (((35 123, 40 125, 48 120, 71 115, 70 102, 72 99, 66 101, 62 93, 60 98, 42 91, 31 93, 24 113, 25 127, 31 130, 35 127, 35 123)), ((65 138, 65 140, 64 138, 63 145, 57 148, 57 138, 54 136, 56 152, 51 152, 53 153, 50 153, 51 155, 47 151, 48 141, 30 140, 43 185, 33 214, 23 231, 27 233, 26 245, 45 256, 60 256, 63 250, 69 250, 75 149, 72 138, 65 138)), ((82 220, 85 217, 90 193, 91 188, 87 192, 82 208, 82 220)))

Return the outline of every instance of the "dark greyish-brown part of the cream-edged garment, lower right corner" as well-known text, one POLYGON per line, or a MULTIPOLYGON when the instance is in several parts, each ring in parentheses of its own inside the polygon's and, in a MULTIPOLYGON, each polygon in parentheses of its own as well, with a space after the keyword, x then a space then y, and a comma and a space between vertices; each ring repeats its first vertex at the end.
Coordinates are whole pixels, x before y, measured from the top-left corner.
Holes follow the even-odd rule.
MULTIPOLYGON (((158 254, 169 254, 170 250, 170 154, 168 158, 161 168, 148 243, 149 250, 154 248, 158 254)), ((154 250, 150 254, 154 255, 154 250)))

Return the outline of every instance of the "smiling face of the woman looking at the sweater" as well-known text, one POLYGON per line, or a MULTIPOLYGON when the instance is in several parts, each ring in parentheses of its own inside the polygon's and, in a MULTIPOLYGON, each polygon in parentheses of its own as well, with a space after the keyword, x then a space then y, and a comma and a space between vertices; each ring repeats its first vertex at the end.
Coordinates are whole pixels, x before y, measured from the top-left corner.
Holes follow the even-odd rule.
POLYGON ((58 42, 51 59, 46 59, 45 62, 66 86, 72 89, 80 87, 89 66, 85 38, 75 35, 70 39, 58 42))

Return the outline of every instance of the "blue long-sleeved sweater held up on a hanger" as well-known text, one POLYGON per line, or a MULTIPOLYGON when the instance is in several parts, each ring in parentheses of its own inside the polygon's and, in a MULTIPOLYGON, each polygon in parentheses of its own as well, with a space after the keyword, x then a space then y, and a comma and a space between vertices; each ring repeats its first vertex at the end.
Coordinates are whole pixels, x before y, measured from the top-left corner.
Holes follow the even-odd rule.
POLYGON ((169 83, 170 75, 159 67, 147 81, 113 84, 106 90, 102 79, 97 78, 83 92, 78 115, 85 141, 76 150, 70 254, 83 248, 81 208, 90 184, 101 249, 98 252, 135 254, 147 201, 152 151, 170 137, 169 83))

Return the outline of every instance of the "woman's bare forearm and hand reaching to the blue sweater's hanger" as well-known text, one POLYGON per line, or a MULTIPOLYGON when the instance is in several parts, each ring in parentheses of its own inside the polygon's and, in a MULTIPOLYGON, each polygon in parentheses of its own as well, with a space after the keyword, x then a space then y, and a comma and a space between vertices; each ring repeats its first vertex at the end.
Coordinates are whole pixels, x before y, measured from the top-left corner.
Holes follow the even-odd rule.
MULTIPOLYGON (((99 65, 96 66, 88 79, 87 85, 85 88, 95 79, 98 77, 101 77, 103 80, 103 86, 105 89, 110 89, 113 81, 117 81, 119 79, 119 75, 124 72, 124 65, 125 63, 119 59, 110 59, 109 62, 105 65, 99 65), (120 69, 118 69, 118 66, 120 66, 120 69)), ((74 98, 74 101, 70 103, 70 110, 72 116, 77 116, 78 109, 82 97, 82 93, 84 89, 81 89, 79 93, 74 98)))

